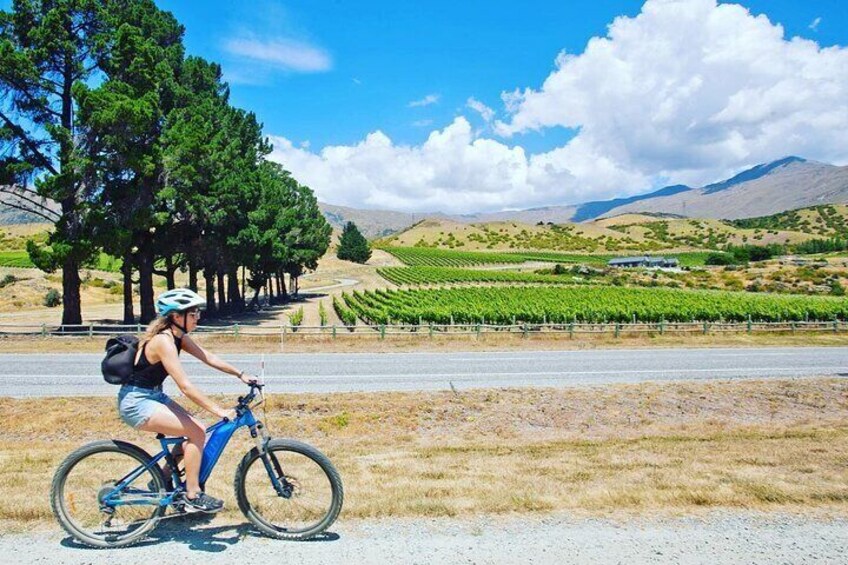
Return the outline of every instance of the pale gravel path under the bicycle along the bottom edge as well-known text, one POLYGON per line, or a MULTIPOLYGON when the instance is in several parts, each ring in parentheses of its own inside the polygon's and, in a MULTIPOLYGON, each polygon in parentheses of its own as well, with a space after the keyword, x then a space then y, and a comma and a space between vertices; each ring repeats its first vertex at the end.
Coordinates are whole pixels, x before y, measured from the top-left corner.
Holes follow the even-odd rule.
POLYGON ((327 539, 301 543, 197 520, 163 523, 142 544, 118 550, 82 548, 58 532, 0 535, 0 563, 848 563, 848 520, 774 514, 342 520, 327 539))

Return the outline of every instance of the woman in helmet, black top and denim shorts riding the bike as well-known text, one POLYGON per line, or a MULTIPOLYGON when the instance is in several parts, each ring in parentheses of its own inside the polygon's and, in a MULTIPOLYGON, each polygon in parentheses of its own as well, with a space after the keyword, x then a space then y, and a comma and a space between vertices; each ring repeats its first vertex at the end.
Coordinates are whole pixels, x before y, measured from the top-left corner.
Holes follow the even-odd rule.
POLYGON ((256 382, 256 377, 245 375, 244 371, 206 351, 189 337, 188 334, 197 327, 200 310, 205 306, 203 298, 185 288, 159 295, 156 300, 159 316, 150 323, 139 342, 133 376, 118 392, 118 411, 121 419, 137 430, 188 438, 183 443, 182 453, 186 507, 218 512, 224 507, 224 502, 202 492, 199 483, 206 426, 162 392, 162 383, 170 375, 180 391, 204 410, 219 418, 233 419, 236 415, 235 410, 220 407, 192 384, 180 363, 180 351, 186 351, 246 384, 256 382))

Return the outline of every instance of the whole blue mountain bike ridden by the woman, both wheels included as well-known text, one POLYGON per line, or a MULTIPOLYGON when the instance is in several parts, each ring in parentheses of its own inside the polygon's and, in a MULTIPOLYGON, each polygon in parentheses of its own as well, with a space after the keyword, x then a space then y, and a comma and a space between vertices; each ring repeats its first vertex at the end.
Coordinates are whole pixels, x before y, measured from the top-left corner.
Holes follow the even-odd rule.
MULTIPOLYGON (((234 420, 207 429, 200 467, 203 486, 233 433, 246 427, 256 441, 236 469, 239 509, 260 532, 279 539, 303 540, 326 530, 341 512, 341 477, 327 457, 291 439, 270 438, 251 408, 265 401, 262 385, 250 385, 240 397, 234 420)), ((185 438, 156 436, 162 450, 151 456, 119 440, 96 441, 71 453, 56 470, 50 493, 59 524, 79 542, 93 547, 122 547, 141 540, 171 508, 181 503, 185 482, 173 448, 185 438), (171 469, 166 481, 159 466, 171 469)))

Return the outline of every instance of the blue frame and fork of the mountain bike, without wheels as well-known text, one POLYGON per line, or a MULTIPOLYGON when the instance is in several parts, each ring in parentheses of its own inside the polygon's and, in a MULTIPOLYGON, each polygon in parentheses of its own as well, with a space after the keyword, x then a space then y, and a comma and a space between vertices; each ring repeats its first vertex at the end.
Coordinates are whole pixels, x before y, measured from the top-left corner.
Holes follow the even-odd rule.
MULTIPOLYGON (((283 485, 280 482, 279 477, 283 475, 283 472, 280 468, 280 464, 277 461, 277 458, 272 456, 270 457, 271 461, 269 461, 269 457, 265 453, 265 443, 267 442, 268 438, 264 433, 262 424, 260 422, 257 422, 256 418, 254 418, 253 416, 253 412, 251 412, 248 406, 244 406, 243 409, 238 410, 237 416, 234 420, 221 420, 206 429, 207 442, 203 448, 203 458, 200 463, 201 487, 206 483, 206 480, 209 478, 209 475, 212 474, 212 471, 214 470, 218 459, 221 457, 221 454, 224 452, 227 445, 229 444, 233 433, 235 433, 236 430, 242 427, 249 428, 250 436, 256 440, 257 447, 262 453, 262 461, 271 479, 271 483, 274 486, 274 490, 280 496, 284 496, 286 498, 291 496, 291 491, 289 488, 287 488, 289 485, 283 485), (276 473, 274 472, 275 470, 276 473)), ((165 496, 161 496, 159 493, 154 493, 148 490, 132 489, 129 494, 135 495, 135 497, 128 499, 122 497, 122 495, 127 492, 126 489, 130 486, 130 484, 132 484, 134 480, 142 476, 145 472, 152 469, 153 466, 157 465, 159 461, 161 461, 163 458, 167 461, 168 466, 171 468, 171 476, 173 477, 173 480, 179 480, 176 461, 171 456, 171 446, 184 442, 186 438, 164 437, 161 435, 158 436, 158 438, 159 443, 162 445, 162 450, 156 455, 154 455, 145 464, 139 465, 138 467, 130 471, 127 475, 125 475, 122 479, 120 479, 118 481, 118 484, 115 485, 115 488, 103 497, 101 501, 101 504, 103 506, 114 507, 145 504, 153 506, 168 506, 169 504, 174 502, 174 498, 177 494, 185 490, 185 482, 181 481, 178 485, 176 485, 176 489, 171 492, 168 492, 165 496)))

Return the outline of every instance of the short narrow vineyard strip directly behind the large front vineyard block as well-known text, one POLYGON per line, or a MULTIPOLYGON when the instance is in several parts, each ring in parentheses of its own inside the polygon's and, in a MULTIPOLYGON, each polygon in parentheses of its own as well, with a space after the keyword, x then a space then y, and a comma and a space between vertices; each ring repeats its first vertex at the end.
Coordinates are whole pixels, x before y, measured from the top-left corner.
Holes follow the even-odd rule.
POLYGON ((516 271, 485 271, 452 267, 383 267, 377 273, 397 285, 432 285, 452 283, 547 283, 579 284, 572 277, 539 275, 516 271))

